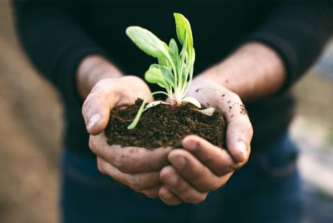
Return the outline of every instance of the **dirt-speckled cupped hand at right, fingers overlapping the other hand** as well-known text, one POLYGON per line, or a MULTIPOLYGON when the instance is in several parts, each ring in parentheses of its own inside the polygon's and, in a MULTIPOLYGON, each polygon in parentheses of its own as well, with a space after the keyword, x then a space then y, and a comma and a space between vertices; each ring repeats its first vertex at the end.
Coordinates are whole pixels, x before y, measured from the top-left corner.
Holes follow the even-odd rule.
POLYGON ((199 136, 186 136, 182 140, 184 149, 172 150, 168 155, 171 166, 160 172, 164 186, 160 188, 159 196, 169 205, 203 202, 207 194, 223 186, 250 155, 253 128, 237 94, 213 80, 197 78, 192 82, 188 96, 223 111, 228 150, 199 136))

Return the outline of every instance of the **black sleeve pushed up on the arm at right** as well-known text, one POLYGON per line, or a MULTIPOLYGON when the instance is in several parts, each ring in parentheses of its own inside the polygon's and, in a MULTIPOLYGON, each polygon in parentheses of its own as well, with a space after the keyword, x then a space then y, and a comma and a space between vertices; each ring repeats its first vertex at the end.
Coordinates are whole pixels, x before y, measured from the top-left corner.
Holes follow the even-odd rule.
POLYGON ((332 32, 333 1, 283 1, 245 41, 262 42, 282 57, 286 89, 314 64, 332 32))

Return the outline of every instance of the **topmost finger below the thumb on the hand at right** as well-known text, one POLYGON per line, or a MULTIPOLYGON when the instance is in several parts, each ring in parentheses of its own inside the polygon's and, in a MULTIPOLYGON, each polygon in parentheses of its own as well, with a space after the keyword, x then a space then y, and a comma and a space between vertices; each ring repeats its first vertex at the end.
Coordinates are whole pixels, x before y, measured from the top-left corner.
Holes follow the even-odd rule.
POLYGON ((237 169, 237 163, 227 150, 212 145, 199 136, 186 136, 182 140, 182 147, 219 177, 237 169))

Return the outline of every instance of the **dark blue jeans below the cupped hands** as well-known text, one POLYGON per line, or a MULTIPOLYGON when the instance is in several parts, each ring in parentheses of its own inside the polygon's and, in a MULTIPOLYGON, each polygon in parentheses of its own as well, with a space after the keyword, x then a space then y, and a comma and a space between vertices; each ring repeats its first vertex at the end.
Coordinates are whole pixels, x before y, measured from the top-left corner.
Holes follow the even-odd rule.
POLYGON ((297 223, 301 194, 296 157, 297 149, 286 134, 264 152, 253 154, 205 202, 167 206, 102 175, 95 161, 65 151, 62 222, 297 223))

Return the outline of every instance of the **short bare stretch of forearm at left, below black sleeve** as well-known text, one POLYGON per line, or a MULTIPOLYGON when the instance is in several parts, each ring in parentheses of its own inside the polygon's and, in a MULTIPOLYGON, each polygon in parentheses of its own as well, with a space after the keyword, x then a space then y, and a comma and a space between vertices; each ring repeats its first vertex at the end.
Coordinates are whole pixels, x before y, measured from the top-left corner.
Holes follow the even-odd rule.
POLYGON ((80 62, 76 82, 80 97, 85 99, 92 87, 105 78, 119 78, 121 71, 100 55, 89 55, 80 62))

